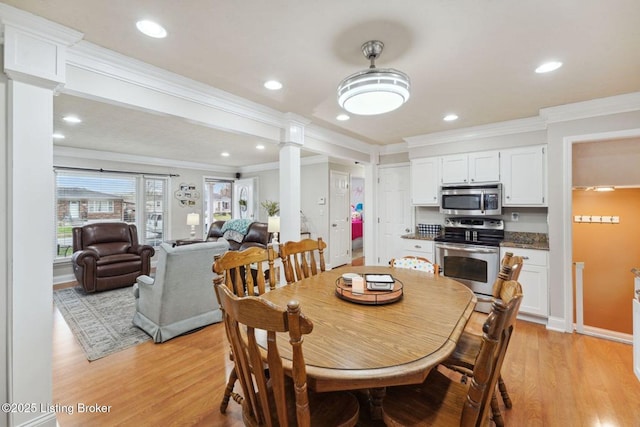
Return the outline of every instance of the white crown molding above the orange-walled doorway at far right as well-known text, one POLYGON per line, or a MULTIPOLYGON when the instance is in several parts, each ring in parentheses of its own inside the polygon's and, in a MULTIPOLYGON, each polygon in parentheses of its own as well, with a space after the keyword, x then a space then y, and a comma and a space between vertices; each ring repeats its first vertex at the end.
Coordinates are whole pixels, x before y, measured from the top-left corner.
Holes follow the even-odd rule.
POLYGON ((558 123, 637 110, 640 110, 640 92, 542 108, 540 116, 547 123, 558 123))

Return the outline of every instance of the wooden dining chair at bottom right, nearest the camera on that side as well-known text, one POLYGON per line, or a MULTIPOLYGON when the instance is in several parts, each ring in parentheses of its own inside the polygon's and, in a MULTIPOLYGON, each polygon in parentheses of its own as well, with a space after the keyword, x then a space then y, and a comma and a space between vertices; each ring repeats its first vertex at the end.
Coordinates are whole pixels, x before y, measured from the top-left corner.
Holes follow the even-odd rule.
POLYGON ((506 345, 522 300, 495 300, 483 325, 482 345, 477 353, 470 384, 449 378, 434 368, 422 384, 389 387, 382 402, 387 426, 485 426, 493 390, 504 360, 506 345))

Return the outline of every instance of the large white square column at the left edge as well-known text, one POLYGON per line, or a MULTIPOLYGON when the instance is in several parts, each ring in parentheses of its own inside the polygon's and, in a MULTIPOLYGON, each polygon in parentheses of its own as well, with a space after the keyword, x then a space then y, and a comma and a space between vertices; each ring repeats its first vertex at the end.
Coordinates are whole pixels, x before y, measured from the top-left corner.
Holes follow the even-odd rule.
POLYGON ((0 181, 6 191, 0 203, 7 235, 0 244, 8 261, 0 267, 6 269, 0 318, 7 322, 1 400, 35 405, 30 411, 3 411, 0 424, 55 426, 55 413, 46 410, 53 391, 53 93, 65 80, 66 48, 82 35, 0 6, 6 90, 0 120, 6 120, 7 129, 0 181))

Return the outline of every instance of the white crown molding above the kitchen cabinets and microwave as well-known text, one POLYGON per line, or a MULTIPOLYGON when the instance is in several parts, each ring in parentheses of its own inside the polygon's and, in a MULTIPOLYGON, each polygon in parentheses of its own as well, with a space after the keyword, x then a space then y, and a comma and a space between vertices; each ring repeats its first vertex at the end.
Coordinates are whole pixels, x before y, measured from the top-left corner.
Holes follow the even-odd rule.
POLYGON ((481 126, 435 132, 426 135, 410 136, 404 138, 404 141, 407 143, 407 147, 411 149, 449 142, 535 132, 545 130, 546 128, 547 124, 541 117, 528 117, 525 119, 508 120, 481 126))

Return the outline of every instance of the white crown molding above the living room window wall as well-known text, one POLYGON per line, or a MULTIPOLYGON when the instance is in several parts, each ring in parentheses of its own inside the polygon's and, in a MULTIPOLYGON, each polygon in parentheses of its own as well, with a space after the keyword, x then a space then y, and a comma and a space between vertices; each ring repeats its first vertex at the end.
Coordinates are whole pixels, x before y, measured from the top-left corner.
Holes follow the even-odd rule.
POLYGON ((86 150, 83 148, 64 147, 59 145, 53 146, 54 156, 64 156, 76 159, 104 160, 121 163, 134 163, 146 166, 161 166, 171 169, 195 169, 206 170, 208 172, 236 173, 238 168, 235 166, 222 166, 209 163, 187 162, 175 159, 163 159, 159 157, 136 156, 133 154, 122 154, 113 151, 86 150))

